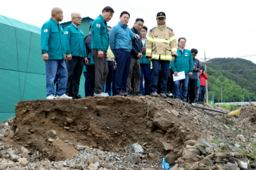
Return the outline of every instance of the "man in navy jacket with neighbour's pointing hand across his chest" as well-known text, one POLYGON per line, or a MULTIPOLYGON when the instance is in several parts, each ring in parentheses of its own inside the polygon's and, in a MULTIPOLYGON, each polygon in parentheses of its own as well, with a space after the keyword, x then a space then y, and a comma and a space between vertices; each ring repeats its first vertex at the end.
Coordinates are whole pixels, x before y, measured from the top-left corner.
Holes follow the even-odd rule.
POLYGON ((130 71, 127 78, 127 91, 131 96, 141 96, 140 93, 140 81, 141 81, 141 71, 140 71, 140 58, 142 58, 142 44, 141 44, 141 29, 143 27, 144 20, 142 18, 137 18, 134 22, 134 26, 131 28, 132 32, 138 34, 140 39, 132 40, 132 50, 131 50, 131 64, 130 71), (131 79, 134 76, 134 91, 131 86, 131 79))

